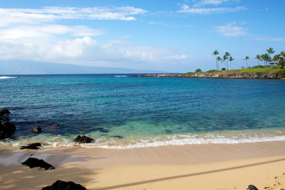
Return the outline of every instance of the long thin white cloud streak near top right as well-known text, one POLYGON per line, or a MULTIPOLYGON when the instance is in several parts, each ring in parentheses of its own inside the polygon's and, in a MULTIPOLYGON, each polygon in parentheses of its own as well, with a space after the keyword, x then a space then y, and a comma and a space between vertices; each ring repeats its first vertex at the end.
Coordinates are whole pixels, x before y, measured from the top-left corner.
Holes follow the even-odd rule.
POLYGON ((189 8, 188 5, 183 5, 178 13, 196 13, 196 14, 213 14, 213 13, 229 13, 246 10, 246 7, 235 7, 235 8, 189 8))

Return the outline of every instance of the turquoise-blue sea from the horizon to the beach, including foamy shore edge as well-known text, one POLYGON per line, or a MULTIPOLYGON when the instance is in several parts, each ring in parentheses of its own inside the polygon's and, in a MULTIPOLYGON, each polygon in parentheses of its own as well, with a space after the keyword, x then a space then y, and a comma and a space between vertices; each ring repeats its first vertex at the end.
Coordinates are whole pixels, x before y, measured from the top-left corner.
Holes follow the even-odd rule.
POLYGON ((115 75, 0 76, 0 109, 17 128, 0 146, 73 146, 77 135, 103 148, 285 140, 285 80, 115 75))

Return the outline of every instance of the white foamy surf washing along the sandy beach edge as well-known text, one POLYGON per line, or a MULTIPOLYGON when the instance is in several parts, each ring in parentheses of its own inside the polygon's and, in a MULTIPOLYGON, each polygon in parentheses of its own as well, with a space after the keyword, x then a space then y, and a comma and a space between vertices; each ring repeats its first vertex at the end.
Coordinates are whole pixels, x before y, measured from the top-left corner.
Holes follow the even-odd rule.
MULTIPOLYGON (((239 133, 239 134, 220 134, 220 133, 208 133, 208 134, 175 134, 175 135, 164 135, 164 136, 152 136, 152 137, 140 137, 133 139, 116 139, 109 137, 98 137, 94 138, 93 143, 78 144, 63 135, 53 136, 43 140, 44 148, 59 147, 59 146, 82 146, 86 148, 114 148, 114 149, 128 149, 128 148, 143 148, 143 147, 156 147, 156 146, 168 146, 168 145, 186 145, 186 144, 235 144, 244 142, 265 142, 265 141, 276 141, 285 140, 284 133, 264 134, 264 133, 239 133)), ((30 143, 25 140, 21 142, 13 142, 11 139, 2 141, 0 146, 19 146, 30 143)))

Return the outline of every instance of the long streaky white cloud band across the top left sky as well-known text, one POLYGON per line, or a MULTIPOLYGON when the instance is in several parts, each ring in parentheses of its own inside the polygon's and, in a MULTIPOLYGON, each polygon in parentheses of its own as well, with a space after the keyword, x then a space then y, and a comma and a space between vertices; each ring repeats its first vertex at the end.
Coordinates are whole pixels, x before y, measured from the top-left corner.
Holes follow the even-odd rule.
POLYGON ((0 8, 0 26, 15 23, 36 24, 62 19, 98 19, 98 20, 136 20, 131 15, 144 14, 147 11, 134 7, 42 7, 42 9, 2 9, 0 8))

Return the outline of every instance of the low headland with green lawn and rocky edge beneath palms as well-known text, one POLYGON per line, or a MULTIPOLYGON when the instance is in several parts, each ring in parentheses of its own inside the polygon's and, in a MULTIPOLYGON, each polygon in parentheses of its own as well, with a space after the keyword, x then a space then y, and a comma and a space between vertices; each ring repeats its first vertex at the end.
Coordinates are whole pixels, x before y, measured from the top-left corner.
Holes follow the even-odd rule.
POLYGON ((254 68, 237 70, 209 70, 183 74, 145 74, 131 77, 176 77, 176 78, 231 78, 231 79, 285 79, 285 69, 254 68))

